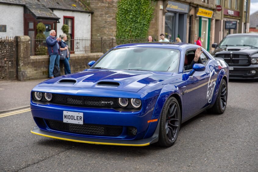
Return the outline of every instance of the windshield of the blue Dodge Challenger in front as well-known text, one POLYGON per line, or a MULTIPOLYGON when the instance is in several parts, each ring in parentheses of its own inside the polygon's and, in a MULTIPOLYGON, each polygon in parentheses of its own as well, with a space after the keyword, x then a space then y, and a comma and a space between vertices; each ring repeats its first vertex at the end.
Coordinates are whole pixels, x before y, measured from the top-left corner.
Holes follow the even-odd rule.
POLYGON ((110 51, 93 68, 178 72, 180 51, 168 48, 119 48, 110 51))

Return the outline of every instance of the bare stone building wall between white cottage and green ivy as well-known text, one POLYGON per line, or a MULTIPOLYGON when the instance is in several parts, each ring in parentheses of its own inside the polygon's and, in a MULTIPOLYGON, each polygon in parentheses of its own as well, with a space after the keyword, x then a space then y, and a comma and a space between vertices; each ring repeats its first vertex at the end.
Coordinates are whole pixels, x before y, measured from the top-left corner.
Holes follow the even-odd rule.
POLYGON ((88 0, 91 16, 91 37, 116 37, 117 0, 88 0))

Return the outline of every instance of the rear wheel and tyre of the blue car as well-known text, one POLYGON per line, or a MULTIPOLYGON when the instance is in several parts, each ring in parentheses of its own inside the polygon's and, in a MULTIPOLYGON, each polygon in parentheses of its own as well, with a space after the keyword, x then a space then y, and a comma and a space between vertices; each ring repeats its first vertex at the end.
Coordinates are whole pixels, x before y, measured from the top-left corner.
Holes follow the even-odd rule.
POLYGON ((208 109, 210 113, 222 114, 227 106, 228 85, 224 79, 221 80, 219 92, 213 107, 208 109))

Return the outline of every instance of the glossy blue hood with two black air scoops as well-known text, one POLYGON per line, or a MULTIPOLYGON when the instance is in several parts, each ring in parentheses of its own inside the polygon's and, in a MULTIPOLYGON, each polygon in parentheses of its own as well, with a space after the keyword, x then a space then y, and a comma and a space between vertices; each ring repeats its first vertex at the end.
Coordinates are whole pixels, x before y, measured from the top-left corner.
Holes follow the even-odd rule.
POLYGON ((171 76, 171 72, 88 69, 49 79, 38 86, 97 88, 138 92, 146 85, 171 76))

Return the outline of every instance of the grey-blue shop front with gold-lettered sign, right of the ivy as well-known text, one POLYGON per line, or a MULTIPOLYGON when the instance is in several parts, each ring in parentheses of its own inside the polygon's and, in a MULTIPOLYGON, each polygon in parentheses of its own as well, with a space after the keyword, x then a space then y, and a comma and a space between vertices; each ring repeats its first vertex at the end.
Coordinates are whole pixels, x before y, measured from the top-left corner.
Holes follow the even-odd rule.
POLYGON ((189 5, 168 1, 165 14, 165 37, 175 42, 176 38, 180 38, 182 42, 186 42, 187 14, 189 5))

